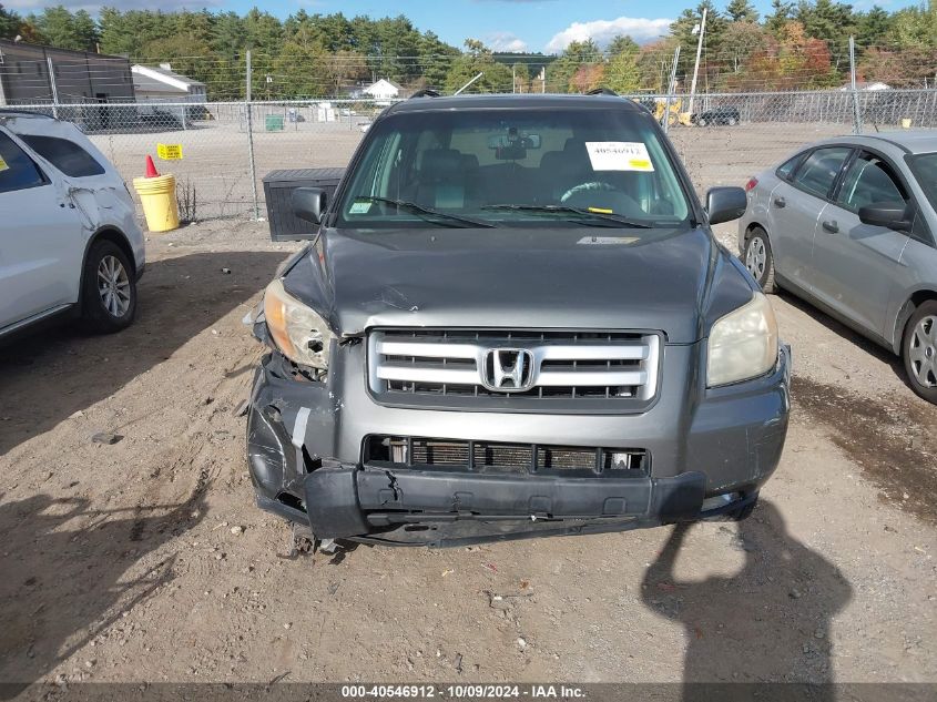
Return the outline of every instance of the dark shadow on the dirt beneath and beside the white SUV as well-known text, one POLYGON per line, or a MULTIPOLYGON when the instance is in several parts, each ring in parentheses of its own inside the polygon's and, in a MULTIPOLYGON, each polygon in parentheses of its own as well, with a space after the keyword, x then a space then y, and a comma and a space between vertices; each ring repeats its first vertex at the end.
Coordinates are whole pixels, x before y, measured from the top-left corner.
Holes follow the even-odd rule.
POLYGON ((64 325, 0 347, 0 456, 166 360, 262 289, 284 257, 224 252, 156 261, 140 282, 129 329, 84 336, 64 325))

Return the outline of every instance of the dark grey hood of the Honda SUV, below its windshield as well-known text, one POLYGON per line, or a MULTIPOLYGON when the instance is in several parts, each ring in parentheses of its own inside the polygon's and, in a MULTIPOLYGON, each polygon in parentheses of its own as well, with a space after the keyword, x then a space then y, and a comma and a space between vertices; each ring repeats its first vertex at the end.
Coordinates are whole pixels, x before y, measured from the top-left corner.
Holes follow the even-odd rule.
POLYGON ((752 297, 703 230, 324 232, 284 281, 343 336, 376 326, 661 329, 694 343, 752 297))

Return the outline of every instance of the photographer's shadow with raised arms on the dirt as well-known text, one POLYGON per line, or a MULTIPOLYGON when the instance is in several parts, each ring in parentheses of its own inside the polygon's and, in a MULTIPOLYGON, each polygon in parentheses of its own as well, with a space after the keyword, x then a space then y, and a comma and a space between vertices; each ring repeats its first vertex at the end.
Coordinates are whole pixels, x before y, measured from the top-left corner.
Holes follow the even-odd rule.
POLYGON ((713 699, 697 683, 787 682, 817 685, 804 699, 832 700, 831 621, 852 597, 839 570, 792 537, 777 508, 762 500, 737 536, 722 527, 744 552, 742 569, 683 580, 675 562, 693 528, 674 527, 642 586, 644 603, 684 628, 683 699, 713 699))

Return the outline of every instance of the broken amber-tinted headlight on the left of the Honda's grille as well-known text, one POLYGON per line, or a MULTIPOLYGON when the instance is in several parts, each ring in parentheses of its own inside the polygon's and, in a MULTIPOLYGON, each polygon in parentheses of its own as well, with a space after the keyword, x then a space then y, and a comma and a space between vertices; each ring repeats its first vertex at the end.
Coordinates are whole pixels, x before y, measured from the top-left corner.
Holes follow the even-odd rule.
POLYGON ((277 278, 264 292, 264 316, 274 344, 293 363, 328 369, 335 335, 318 314, 293 297, 277 278))

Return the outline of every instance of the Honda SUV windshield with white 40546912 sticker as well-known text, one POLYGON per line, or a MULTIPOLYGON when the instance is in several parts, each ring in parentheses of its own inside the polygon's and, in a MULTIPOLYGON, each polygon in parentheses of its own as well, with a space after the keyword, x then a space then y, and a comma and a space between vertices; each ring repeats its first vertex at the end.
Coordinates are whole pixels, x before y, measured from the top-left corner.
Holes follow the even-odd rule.
POLYGON ((367 139, 339 227, 689 222, 686 195, 643 113, 426 111, 380 120, 367 139))

